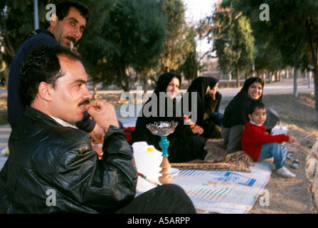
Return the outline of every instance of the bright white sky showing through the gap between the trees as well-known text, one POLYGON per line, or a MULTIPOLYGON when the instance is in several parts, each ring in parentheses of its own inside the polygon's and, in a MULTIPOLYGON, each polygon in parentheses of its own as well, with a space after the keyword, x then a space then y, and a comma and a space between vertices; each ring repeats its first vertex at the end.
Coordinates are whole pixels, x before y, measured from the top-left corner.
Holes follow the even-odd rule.
MULTIPOLYGON (((184 0, 186 5, 186 21, 197 23, 200 19, 211 15, 214 3, 217 0, 184 0)), ((206 39, 197 42, 196 51, 206 52, 211 47, 206 39)))

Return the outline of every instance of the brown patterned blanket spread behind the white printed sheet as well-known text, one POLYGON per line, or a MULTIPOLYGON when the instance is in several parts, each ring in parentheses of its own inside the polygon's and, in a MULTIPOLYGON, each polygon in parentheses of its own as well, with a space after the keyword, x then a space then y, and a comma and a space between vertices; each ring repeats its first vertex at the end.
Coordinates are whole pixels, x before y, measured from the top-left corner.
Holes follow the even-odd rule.
POLYGON ((228 154, 223 149, 223 139, 208 139, 205 149, 208 151, 204 160, 171 163, 179 170, 228 170, 250 172, 255 163, 243 151, 228 154))

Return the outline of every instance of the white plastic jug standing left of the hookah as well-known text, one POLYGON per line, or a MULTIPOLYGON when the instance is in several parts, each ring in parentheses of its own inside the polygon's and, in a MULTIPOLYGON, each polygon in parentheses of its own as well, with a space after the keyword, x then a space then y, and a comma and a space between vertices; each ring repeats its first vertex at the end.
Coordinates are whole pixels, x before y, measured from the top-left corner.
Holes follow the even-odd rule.
MULTIPOLYGON (((147 142, 134 142, 132 144, 134 150, 134 162, 136 163, 137 172, 146 176, 149 180, 160 183, 158 178, 161 176, 162 152, 157 150, 153 145, 147 142)), ((156 185, 138 176, 137 192, 147 192, 156 185)))

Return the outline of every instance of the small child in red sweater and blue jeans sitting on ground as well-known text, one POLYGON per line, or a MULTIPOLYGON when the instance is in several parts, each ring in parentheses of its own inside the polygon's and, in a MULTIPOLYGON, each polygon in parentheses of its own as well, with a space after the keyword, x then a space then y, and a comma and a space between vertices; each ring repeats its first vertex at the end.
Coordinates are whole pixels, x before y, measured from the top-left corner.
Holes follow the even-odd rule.
POLYGON ((296 175, 285 167, 287 150, 282 142, 295 142, 296 138, 290 135, 272 135, 266 133, 263 123, 266 120, 266 107, 261 102, 250 105, 248 118, 250 122, 245 124, 241 147, 242 150, 255 162, 274 157, 275 169, 278 175, 283 177, 295 177, 296 175))

